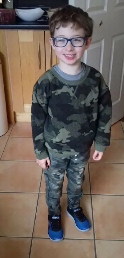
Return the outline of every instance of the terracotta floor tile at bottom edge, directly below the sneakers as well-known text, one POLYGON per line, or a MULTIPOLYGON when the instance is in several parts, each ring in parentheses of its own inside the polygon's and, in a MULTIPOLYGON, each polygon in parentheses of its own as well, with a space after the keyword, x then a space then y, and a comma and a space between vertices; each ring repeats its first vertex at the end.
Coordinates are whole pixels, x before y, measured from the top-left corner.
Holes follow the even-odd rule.
POLYGON ((33 239, 30 258, 95 258, 93 240, 63 240, 53 243, 49 239, 33 239))

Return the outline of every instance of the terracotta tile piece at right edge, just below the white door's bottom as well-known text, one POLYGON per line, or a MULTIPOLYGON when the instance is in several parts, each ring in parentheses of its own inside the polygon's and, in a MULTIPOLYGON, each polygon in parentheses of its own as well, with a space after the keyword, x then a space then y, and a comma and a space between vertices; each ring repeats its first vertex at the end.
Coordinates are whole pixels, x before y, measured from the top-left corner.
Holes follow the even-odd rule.
POLYGON ((124 132, 122 129, 121 121, 111 127, 111 139, 124 139, 124 132))

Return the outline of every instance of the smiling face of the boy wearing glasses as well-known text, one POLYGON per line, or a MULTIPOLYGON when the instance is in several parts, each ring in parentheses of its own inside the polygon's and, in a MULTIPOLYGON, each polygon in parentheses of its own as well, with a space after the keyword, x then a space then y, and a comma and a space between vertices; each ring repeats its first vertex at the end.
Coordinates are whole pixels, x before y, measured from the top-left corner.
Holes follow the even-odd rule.
MULTIPOLYGON (((54 38, 75 38, 85 36, 83 29, 75 30, 74 28, 71 28, 71 26, 72 24, 70 24, 66 28, 60 27, 59 29, 56 29, 54 33, 54 38)), ((70 41, 64 47, 57 47, 54 46, 53 41, 50 39, 50 44, 54 49, 60 62, 66 63, 68 65, 75 65, 76 63, 80 62, 84 54, 84 51, 88 48, 90 43, 91 37, 86 38, 84 45, 81 47, 72 46, 70 41)))

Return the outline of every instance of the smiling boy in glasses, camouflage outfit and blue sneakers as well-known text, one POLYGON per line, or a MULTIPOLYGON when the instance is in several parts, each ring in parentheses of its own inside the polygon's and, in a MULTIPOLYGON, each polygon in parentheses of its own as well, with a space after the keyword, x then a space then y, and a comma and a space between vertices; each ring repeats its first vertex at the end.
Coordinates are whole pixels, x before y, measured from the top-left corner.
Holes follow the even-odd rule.
POLYGON ((93 21, 80 8, 65 6, 50 18, 50 44, 59 63, 34 85, 32 135, 37 163, 44 169, 48 236, 63 239, 62 185, 68 178, 67 215, 78 230, 90 230, 80 207, 85 166, 94 141, 93 159, 110 145, 111 96, 102 75, 81 62, 91 42, 93 21))

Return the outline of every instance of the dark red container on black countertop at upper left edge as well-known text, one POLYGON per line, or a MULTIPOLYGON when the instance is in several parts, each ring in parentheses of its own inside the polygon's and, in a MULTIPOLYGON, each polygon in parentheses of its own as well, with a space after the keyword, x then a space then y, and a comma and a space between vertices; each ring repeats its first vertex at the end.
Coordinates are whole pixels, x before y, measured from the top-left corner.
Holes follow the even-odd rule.
POLYGON ((0 9, 0 24, 9 24, 15 22, 14 9, 0 9))

